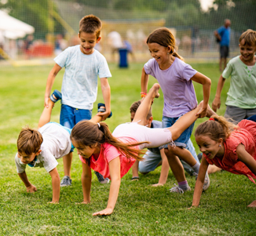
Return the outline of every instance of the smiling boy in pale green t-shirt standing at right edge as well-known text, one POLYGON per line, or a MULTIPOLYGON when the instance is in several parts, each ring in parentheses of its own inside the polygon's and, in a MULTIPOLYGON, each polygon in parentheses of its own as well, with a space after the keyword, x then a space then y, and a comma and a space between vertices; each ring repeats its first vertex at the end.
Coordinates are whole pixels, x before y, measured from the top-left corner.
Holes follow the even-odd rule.
POLYGON ((225 79, 231 76, 226 100, 225 118, 236 123, 256 114, 256 31, 247 30, 239 39, 240 56, 234 57, 221 74, 212 108, 221 107, 221 90, 225 79))

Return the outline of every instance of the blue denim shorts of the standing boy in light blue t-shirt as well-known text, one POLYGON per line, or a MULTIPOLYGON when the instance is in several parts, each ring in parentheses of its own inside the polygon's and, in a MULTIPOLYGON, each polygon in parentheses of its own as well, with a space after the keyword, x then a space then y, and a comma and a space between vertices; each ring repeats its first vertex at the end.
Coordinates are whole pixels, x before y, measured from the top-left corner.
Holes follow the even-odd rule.
POLYGON ((92 110, 78 109, 68 105, 61 105, 60 125, 72 129, 75 124, 82 120, 90 120, 92 118, 92 110))

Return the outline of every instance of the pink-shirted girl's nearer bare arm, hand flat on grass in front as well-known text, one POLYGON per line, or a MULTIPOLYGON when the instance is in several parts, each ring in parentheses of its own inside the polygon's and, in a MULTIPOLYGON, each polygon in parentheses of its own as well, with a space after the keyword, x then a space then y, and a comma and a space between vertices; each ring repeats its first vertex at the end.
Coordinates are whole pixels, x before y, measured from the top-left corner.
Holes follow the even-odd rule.
POLYGON ((119 188, 121 184, 121 176, 120 176, 120 158, 114 158, 111 162, 108 163, 109 165, 109 172, 111 176, 111 184, 110 184, 110 191, 108 197, 108 205, 107 208, 100 211, 93 213, 93 216, 97 215, 111 215, 114 208, 117 198, 119 196, 119 188))

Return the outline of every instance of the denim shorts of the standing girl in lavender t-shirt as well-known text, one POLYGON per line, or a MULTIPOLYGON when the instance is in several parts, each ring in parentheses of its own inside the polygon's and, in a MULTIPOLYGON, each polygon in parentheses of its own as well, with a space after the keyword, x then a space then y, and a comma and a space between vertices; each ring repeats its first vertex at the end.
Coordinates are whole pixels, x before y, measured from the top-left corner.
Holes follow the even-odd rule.
MULTIPOLYGON (((174 125, 174 123, 180 117, 170 118, 170 117, 163 116, 163 118, 162 118, 163 128, 168 128, 168 127, 174 125)), ((179 136, 178 139, 174 141, 174 143, 177 147, 186 147, 187 146, 186 143, 188 143, 188 140, 190 139, 190 136, 192 135, 194 125, 195 125, 195 122, 193 122, 192 125, 190 125, 188 127, 188 129, 185 129, 185 131, 183 133, 181 133, 181 136, 179 136)), ((167 148, 167 147, 168 146, 166 145, 164 148, 167 148)))

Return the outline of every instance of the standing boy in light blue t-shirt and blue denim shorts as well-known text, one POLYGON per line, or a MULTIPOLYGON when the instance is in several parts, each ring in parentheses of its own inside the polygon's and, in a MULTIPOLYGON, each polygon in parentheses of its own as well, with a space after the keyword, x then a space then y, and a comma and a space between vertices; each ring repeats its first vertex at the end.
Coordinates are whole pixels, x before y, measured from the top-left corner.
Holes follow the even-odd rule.
MULTIPOLYGON (((101 91, 106 106, 103 120, 111 113, 108 63, 101 53, 94 49, 101 40, 101 20, 97 16, 84 16, 79 22, 80 45, 65 49, 54 60, 56 64, 49 72, 46 84, 45 107, 53 82, 62 67, 65 73, 62 82, 62 100, 60 125, 70 129, 82 120, 90 120, 93 103, 97 99, 97 76, 101 78, 101 91)), ((71 166, 72 155, 63 158, 67 166, 71 166)), ((61 185, 70 185, 68 176, 64 176, 61 185)))

